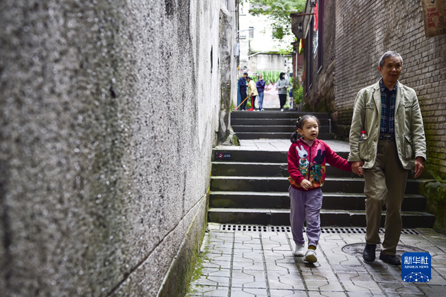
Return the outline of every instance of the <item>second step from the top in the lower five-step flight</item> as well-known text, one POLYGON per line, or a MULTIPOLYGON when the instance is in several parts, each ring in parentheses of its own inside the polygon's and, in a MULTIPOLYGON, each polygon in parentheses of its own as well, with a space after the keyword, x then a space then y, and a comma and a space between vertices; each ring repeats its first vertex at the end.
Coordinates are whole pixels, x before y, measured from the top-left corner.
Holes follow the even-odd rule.
MULTIPOLYGON (((288 177, 287 163, 212 162, 213 176, 288 177)), ((328 177, 359 178, 353 172, 343 171, 327 164, 328 177)))

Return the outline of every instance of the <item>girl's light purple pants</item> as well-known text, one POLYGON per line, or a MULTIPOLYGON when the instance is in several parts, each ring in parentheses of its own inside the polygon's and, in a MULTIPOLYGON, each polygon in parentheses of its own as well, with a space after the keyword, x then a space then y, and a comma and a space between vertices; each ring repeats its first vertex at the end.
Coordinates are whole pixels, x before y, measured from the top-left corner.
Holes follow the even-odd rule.
POLYGON ((304 244, 303 237, 304 221, 307 221, 308 246, 317 246, 321 236, 322 189, 317 188, 312 191, 299 191, 289 186, 289 199, 291 202, 291 212, 289 220, 291 222, 291 232, 296 244, 304 244))

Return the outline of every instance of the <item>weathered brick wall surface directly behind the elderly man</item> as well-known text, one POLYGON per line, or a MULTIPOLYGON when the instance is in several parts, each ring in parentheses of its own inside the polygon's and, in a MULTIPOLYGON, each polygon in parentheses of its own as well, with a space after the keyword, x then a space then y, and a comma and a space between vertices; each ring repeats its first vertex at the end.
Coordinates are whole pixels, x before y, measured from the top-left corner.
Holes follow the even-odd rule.
POLYGON ((388 50, 404 60, 400 81, 417 92, 429 170, 446 179, 446 35, 426 39, 421 1, 336 1, 335 110, 349 125, 356 93, 381 77, 388 50))

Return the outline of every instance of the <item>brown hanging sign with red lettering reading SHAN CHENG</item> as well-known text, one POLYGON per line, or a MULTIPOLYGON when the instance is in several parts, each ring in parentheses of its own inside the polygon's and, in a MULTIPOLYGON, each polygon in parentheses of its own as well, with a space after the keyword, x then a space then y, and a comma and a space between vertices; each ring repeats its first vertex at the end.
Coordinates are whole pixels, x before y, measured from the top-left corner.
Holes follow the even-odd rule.
POLYGON ((421 0, 426 37, 446 34, 446 0, 421 0))

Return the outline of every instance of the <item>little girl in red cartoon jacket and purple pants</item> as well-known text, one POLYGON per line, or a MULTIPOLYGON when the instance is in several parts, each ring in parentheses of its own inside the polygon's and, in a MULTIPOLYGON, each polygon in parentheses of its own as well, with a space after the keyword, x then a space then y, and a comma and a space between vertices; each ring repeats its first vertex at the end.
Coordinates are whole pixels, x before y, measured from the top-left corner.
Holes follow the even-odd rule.
MULTIPOLYGON (((321 235, 320 212, 322 189, 326 176, 326 162, 344 171, 351 171, 351 163, 338 156, 319 135, 319 120, 305 115, 297 120, 297 131, 291 135, 288 150, 290 222, 294 255, 305 256, 310 263, 317 262, 316 246, 321 235), (301 137, 298 139, 298 134, 301 137), (308 249, 305 252, 304 221, 307 222, 308 249)), ((362 170, 362 168, 361 168, 362 170)))

